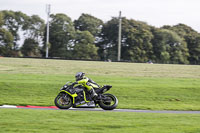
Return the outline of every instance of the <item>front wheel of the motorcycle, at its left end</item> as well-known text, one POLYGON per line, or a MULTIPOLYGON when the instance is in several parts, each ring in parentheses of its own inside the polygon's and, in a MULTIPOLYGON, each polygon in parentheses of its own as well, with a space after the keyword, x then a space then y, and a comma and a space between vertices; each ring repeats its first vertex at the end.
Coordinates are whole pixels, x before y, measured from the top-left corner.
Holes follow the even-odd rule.
POLYGON ((54 103, 60 109, 69 109, 72 106, 72 98, 65 93, 60 93, 55 98, 54 103))

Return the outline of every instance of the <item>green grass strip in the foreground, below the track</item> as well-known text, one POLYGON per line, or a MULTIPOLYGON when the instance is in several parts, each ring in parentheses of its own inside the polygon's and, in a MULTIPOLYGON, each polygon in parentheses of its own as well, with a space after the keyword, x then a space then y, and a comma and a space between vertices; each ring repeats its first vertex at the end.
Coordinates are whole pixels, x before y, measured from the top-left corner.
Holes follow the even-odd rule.
POLYGON ((199 133, 199 114, 0 109, 2 133, 199 133))

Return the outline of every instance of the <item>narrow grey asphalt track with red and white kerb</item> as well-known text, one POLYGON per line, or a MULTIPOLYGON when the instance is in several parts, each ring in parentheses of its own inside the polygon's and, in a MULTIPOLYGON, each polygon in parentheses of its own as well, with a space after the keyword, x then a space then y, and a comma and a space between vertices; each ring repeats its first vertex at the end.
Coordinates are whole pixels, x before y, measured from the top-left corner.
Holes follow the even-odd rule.
MULTIPOLYGON (((0 106, 0 109, 10 108, 10 109, 34 109, 34 110, 61 110, 55 106, 50 107, 40 107, 40 106, 0 106)), ((173 114, 200 114, 200 111, 171 111, 171 110, 134 110, 134 109, 114 109, 114 110, 103 110, 101 108, 70 108, 68 110, 62 111, 102 111, 102 112, 135 112, 135 113, 173 113, 173 114)))

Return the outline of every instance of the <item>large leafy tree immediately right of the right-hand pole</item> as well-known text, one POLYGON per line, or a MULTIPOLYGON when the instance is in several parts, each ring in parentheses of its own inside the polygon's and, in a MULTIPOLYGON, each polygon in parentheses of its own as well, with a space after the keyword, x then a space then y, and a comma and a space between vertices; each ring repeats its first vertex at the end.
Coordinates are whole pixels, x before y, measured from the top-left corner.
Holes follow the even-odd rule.
POLYGON ((151 27, 133 19, 122 21, 122 58, 134 62, 147 62, 153 54, 151 27))

